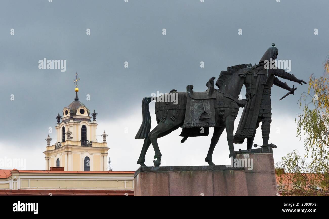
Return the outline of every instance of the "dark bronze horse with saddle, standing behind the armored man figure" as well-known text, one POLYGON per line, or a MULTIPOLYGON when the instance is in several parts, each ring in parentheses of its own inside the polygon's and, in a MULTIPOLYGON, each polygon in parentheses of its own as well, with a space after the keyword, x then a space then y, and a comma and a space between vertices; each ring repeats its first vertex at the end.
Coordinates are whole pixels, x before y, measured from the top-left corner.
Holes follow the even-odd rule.
MULTIPOLYGON (((209 127, 214 128, 214 134, 205 161, 209 165, 215 165, 212 162, 212 155, 218 139, 224 129, 227 133, 227 141, 230 150, 229 157, 235 157, 233 145, 234 120, 236 119, 239 108, 244 107, 246 101, 255 94, 255 83, 257 74, 255 65, 241 64, 227 68, 227 71, 221 71, 216 81, 219 89, 214 88, 214 79, 207 82, 208 89, 204 92, 194 92, 193 85, 187 86, 187 92, 170 91, 170 94, 178 96, 178 103, 173 103, 172 95, 166 101, 155 103, 155 114, 158 125, 150 132, 151 116, 149 103, 153 97, 145 97, 142 100, 143 122, 135 138, 144 138, 144 144, 137 161, 141 166, 146 166, 145 154, 150 144, 153 145, 156 160, 153 160, 154 166, 161 164, 161 152, 157 139, 163 137, 172 131, 183 127, 183 143, 189 136, 204 136, 209 134, 209 127), (247 99, 241 99, 240 91, 242 86, 246 87, 247 99), (204 129, 204 133, 200 130, 204 129), (201 133, 201 134, 200 134, 201 133)), ((165 98, 164 98, 165 99, 165 98)))

